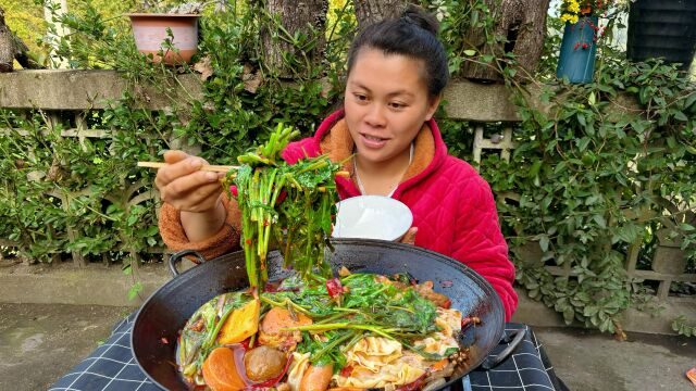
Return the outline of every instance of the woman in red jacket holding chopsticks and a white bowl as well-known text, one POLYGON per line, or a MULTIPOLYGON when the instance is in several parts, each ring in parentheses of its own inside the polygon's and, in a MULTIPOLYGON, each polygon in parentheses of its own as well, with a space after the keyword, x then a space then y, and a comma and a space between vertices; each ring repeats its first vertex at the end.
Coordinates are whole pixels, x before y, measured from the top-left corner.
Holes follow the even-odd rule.
MULTIPOLYGON (((339 162, 355 154, 345 163, 350 178, 336 178, 340 198, 380 194, 403 202, 413 213, 406 241, 475 269, 498 292, 509 320, 518 302, 514 266, 490 188, 468 163, 447 154, 433 119, 449 79, 437 29, 437 21, 415 7, 363 29, 348 53, 344 109, 313 137, 290 143, 283 157, 295 163, 326 153, 339 162)), ((156 178, 165 201, 164 242, 206 256, 238 247, 239 211, 222 194, 221 175, 200 172, 206 162, 181 151, 164 160, 171 165, 156 178)))

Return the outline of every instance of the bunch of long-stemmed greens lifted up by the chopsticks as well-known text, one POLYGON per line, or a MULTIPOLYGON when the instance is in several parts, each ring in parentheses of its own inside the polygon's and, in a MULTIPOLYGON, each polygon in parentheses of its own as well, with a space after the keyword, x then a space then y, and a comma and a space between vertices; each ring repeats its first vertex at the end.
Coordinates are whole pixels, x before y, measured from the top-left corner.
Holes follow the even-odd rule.
POLYGON ((281 152, 298 134, 278 124, 264 146, 238 156, 243 165, 224 181, 237 187, 241 244, 249 283, 257 293, 269 279, 265 260, 271 237, 283 252, 285 267, 304 279, 315 277, 314 268, 321 276, 331 276, 324 247, 338 199, 334 176, 340 166, 325 155, 293 165, 284 162, 281 152))

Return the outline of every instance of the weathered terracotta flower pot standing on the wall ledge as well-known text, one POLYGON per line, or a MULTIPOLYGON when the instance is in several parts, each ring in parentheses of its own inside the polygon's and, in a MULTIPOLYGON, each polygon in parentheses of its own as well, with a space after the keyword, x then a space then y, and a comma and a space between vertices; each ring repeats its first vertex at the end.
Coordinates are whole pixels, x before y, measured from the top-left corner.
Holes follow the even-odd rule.
POLYGON ((158 55, 164 51, 164 63, 176 65, 187 63, 198 51, 198 17, 196 14, 128 14, 138 51, 152 54, 154 62, 162 61, 158 55), (162 49, 162 42, 169 38, 166 29, 172 29, 173 46, 178 50, 162 49))

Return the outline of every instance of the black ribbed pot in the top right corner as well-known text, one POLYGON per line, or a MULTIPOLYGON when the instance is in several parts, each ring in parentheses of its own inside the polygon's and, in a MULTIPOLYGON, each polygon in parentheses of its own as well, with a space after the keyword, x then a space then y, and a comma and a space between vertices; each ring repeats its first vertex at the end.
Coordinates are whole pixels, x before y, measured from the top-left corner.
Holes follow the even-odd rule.
POLYGON ((626 56, 662 58, 686 71, 696 50, 696 1, 634 0, 629 10, 626 56))

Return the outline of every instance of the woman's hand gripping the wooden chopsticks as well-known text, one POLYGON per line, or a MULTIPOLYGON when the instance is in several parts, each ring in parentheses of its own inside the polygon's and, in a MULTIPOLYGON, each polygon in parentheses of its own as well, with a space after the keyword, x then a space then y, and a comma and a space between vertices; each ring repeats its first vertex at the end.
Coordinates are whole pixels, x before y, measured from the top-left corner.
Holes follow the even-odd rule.
POLYGON ((164 162, 169 165, 160 168, 154 178, 164 202, 185 212, 204 213, 215 209, 222 193, 223 173, 200 171, 208 162, 183 151, 165 152, 164 162))

